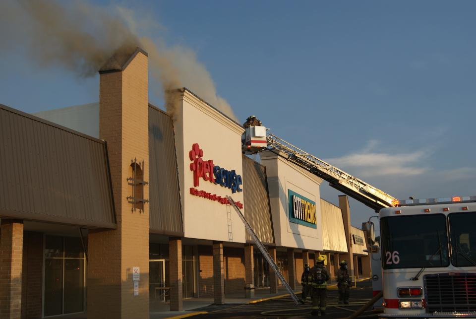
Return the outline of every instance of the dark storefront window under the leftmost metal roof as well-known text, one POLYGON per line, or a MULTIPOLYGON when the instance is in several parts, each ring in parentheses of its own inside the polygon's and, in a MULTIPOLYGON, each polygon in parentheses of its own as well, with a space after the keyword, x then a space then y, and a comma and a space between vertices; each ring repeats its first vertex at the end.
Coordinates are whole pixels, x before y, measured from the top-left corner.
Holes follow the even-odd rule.
POLYGON ((45 317, 84 311, 84 271, 79 238, 46 236, 45 317))

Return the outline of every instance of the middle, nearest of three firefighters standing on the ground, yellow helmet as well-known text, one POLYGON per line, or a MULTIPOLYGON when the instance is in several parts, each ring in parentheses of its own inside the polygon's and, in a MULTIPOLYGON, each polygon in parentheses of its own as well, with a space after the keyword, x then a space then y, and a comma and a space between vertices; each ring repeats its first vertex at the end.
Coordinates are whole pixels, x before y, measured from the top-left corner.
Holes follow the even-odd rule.
POLYGON ((324 256, 319 255, 310 272, 313 277, 311 315, 324 316, 326 314, 327 281, 330 279, 327 269, 324 267, 324 256))

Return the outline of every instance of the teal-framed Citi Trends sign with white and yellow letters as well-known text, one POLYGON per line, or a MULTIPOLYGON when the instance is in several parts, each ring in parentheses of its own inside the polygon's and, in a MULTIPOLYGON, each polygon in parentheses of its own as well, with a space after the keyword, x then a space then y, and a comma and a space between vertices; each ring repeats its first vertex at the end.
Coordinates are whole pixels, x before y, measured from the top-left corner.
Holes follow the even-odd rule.
POLYGON ((317 228, 316 203, 297 192, 288 190, 289 220, 311 228, 317 228))

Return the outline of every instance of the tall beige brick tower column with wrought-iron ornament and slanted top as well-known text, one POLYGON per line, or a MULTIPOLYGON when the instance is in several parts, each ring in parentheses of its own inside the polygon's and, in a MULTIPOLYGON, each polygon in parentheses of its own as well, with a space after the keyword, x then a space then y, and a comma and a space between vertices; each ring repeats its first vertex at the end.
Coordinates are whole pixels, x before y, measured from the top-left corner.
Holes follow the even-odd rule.
POLYGON ((88 233, 88 318, 149 319, 149 206, 138 203, 134 210, 127 199, 140 196, 140 188, 149 198, 147 185, 138 184, 133 194, 127 180, 137 160, 149 181, 147 55, 138 50, 108 65, 113 69, 100 71, 99 135, 108 147, 117 229, 88 233))

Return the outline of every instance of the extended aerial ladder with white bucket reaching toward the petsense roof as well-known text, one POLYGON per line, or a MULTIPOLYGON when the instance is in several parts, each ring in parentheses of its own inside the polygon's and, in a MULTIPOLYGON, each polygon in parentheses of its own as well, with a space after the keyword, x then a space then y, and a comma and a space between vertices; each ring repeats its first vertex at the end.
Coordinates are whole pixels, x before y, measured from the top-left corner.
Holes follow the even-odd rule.
POLYGON ((392 207, 398 202, 397 198, 386 192, 269 133, 263 126, 247 127, 241 140, 243 153, 256 154, 264 150, 274 152, 329 182, 329 186, 357 199, 377 213, 381 208, 392 207))

